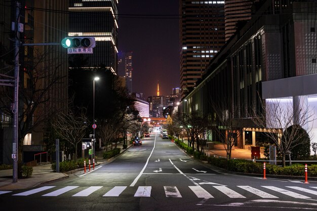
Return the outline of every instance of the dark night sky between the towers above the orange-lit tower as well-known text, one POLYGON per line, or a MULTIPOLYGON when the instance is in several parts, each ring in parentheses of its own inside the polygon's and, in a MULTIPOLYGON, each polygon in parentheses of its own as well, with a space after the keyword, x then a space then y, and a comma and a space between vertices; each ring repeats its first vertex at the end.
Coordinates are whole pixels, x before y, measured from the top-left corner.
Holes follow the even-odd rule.
POLYGON ((121 0, 118 5, 118 51, 133 52, 133 92, 145 99, 156 95, 159 81, 160 94, 172 94, 180 86, 178 16, 126 15, 178 15, 179 1, 121 0))

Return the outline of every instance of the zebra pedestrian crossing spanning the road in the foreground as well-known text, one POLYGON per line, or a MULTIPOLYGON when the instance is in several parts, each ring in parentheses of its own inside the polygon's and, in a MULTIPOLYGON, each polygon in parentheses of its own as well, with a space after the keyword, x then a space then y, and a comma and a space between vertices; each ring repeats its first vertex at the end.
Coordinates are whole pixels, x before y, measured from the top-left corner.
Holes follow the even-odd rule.
MULTIPOLYGON (((95 192, 97 195, 100 194, 102 197, 120 197, 124 191, 130 189, 128 192, 131 193, 133 187, 128 186, 114 186, 110 190, 103 190, 106 187, 103 186, 90 186, 86 187, 84 190, 80 186, 66 186, 66 187, 57 187, 57 186, 43 186, 28 191, 12 194, 12 191, 0 191, 0 195, 12 194, 12 196, 29 196, 33 194, 41 194, 43 197, 56 197, 65 193, 70 193, 71 197, 87 197, 95 192), (77 191, 78 190, 78 191, 77 191), (42 192, 42 193, 41 193, 42 192), (43 194, 45 192, 45 194, 43 194), (48 192, 48 193, 47 193, 48 192)), ((157 187, 156 187, 157 188, 157 187)), ((185 187, 186 189, 187 187, 185 187)), ((107 188, 108 189, 108 188, 107 188)), ((285 186, 283 188, 275 186, 260 186, 257 188, 251 186, 234 186, 227 187, 224 185, 213 185, 206 186, 188 186, 188 191, 184 190, 182 187, 183 193, 176 186, 163 186, 166 197, 172 198, 182 198, 185 194, 193 194, 197 198, 247 198, 247 197, 260 197, 260 198, 280 198, 288 196, 295 199, 317 199, 317 187, 299 187, 299 186, 285 186), (207 191, 207 190, 208 191, 207 191), (233 190, 234 189, 234 190, 233 190), (261 190, 260 190, 261 189, 261 190), (190 191, 189 191, 190 190, 190 191), (266 192, 268 191, 268 192, 266 192)), ((157 193, 157 192, 156 192, 157 193)), ((134 193, 134 197, 151 197, 152 195, 151 186, 139 186, 134 193)))

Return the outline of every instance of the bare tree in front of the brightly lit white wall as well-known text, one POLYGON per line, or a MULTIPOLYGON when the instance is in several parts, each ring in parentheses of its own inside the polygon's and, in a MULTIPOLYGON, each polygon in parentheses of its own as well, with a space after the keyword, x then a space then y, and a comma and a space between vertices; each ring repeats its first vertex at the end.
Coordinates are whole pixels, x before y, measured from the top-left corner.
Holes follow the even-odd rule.
MULTIPOLYGON (((299 98, 300 99, 300 98, 299 98)), ((261 103, 265 116, 254 115, 253 122, 260 128, 265 128, 265 134, 270 137, 282 154, 283 166, 286 155, 299 144, 302 144, 302 128, 309 134, 312 127, 309 122, 314 121, 314 113, 309 110, 304 100, 272 99, 261 103), (282 102, 283 100, 283 102, 282 102), (293 106, 295 105, 295 106, 293 106)))

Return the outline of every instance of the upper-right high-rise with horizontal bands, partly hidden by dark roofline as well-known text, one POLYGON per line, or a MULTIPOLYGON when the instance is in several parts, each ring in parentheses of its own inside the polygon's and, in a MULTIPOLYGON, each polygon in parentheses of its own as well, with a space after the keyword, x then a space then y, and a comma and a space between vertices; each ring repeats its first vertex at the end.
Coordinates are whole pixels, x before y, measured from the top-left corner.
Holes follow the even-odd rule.
POLYGON ((237 23, 251 19, 251 7, 259 0, 225 0, 224 2, 224 23, 226 42, 234 34, 237 23))

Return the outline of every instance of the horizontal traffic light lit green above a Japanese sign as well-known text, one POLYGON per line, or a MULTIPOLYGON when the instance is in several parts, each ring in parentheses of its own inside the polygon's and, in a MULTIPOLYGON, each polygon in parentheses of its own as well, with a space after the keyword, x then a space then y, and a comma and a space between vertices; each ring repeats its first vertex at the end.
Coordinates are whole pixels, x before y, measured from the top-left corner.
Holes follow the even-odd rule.
POLYGON ((61 42, 64 48, 94 48, 95 37, 67 37, 61 42))

